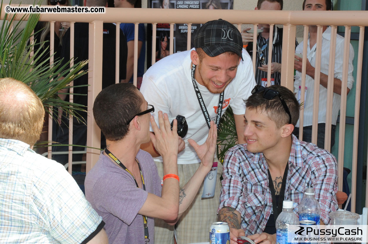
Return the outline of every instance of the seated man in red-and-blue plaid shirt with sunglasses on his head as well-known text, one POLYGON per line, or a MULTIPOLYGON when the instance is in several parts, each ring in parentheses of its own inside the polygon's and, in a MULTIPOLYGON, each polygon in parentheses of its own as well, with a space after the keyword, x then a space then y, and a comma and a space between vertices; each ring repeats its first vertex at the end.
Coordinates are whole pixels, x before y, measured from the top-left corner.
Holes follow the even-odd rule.
POLYGON ((219 220, 229 223, 230 243, 248 236, 255 243, 276 243, 275 222, 283 200, 294 213, 305 189, 312 187, 321 205, 321 224, 338 208, 337 164, 327 150, 292 134, 300 105, 283 86, 255 86, 245 101, 246 144, 224 159, 219 220))

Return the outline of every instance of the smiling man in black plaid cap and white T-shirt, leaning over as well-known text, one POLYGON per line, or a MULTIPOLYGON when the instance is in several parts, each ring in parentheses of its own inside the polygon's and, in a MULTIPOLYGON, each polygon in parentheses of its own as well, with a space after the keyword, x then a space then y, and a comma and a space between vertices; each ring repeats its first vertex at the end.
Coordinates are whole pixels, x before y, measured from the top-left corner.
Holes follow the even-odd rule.
MULTIPOLYGON (((200 159, 188 139, 203 143, 209 122, 212 120, 218 124, 229 105, 234 112, 239 143, 245 142, 243 99, 250 96, 255 85, 251 58, 243 51, 241 34, 234 25, 222 19, 207 22, 195 34, 194 47, 169 55, 152 65, 143 76, 141 87, 146 100, 157 111, 166 112, 170 121, 177 115, 183 115, 188 123, 188 133, 183 139, 180 138, 178 147, 180 186, 190 179, 200 165, 200 159)), ((158 118, 157 113, 152 115, 158 118)), ((162 177, 162 158, 152 145, 150 142, 141 148, 156 157, 155 162, 162 177)), ((216 165, 217 159, 214 162, 216 165)), ((206 230, 217 219, 221 173, 219 163, 214 192, 204 192, 206 187, 202 184, 192 205, 175 226, 178 244, 208 241, 206 230)), ((180 196, 185 194, 185 189, 182 189, 180 196)), ((173 230, 174 226, 155 220, 155 241, 173 243, 173 230)))

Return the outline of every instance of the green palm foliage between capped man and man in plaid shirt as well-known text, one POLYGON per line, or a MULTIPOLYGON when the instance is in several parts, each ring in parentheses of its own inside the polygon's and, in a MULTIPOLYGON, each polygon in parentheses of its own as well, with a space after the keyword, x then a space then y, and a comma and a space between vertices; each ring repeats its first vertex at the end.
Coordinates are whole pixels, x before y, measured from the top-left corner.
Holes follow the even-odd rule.
POLYGON ((238 141, 234 113, 231 107, 227 108, 217 130, 217 158, 222 162, 227 150, 235 146, 238 141))

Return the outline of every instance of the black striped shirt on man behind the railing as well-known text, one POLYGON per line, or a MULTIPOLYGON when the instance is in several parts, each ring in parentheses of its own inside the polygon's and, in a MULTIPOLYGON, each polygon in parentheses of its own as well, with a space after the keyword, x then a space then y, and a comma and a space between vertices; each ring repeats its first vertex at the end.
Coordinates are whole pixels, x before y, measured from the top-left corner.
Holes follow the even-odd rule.
MULTIPOLYGON (((276 27, 273 29, 273 47, 272 47, 272 62, 277 62, 279 64, 281 64, 281 60, 282 60, 282 32, 283 32, 283 28, 279 28, 276 27)), ((257 83, 257 85, 264 85, 261 82, 262 78, 267 79, 267 72, 261 71, 260 69, 258 69, 257 67, 261 67, 262 63, 259 60, 259 55, 262 53, 265 57, 265 64, 268 64, 268 41, 269 39, 265 39, 264 37, 262 37, 261 34, 259 34, 257 36, 257 47, 256 50, 261 50, 262 46, 264 47, 264 45, 267 45, 266 48, 263 51, 256 51, 256 58, 255 58, 255 81, 257 83), (265 44, 266 43, 266 44, 265 44)), ((295 40, 295 47, 298 46, 298 42, 295 40)), ((250 42, 248 44, 247 47, 247 51, 248 53, 251 55, 253 55, 253 43, 250 42)), ((271 74, 271 79, 275 79, 275 85, 280 85, 281 82, 281 73, 279 72, 275 72, 273 74, 271 74)))

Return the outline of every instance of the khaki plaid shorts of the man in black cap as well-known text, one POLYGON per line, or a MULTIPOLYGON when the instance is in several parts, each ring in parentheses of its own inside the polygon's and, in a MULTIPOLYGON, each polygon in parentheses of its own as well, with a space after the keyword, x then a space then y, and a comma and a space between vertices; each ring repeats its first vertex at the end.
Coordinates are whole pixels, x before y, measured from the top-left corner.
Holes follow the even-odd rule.
MULTIPOLYGON (((217 160, 217 159, 216 159, 217 160)), ((216 162, 216 161, 215 161, 216 162)), ((217 162, 219 162, 217 160, 217 162)), ((162 162, 155 161, 159 176, 163 177, 162 162)), ((200 163, 178 164, 178 176, 180 187, 183 187, 197 171, 200 163)), ((162 219, 155 219, 155 243, 173 244, 174 229, 177 244, 197 243, 209 241, 209 227, 217 221, 217 208, 219 207, 222 174, 222 165, 217 164, 217 181, 215 196, 213 198, 201 198, 203 183, 198 190, 192 204, 181 216, 175 226, 170 226, 162 219)))

